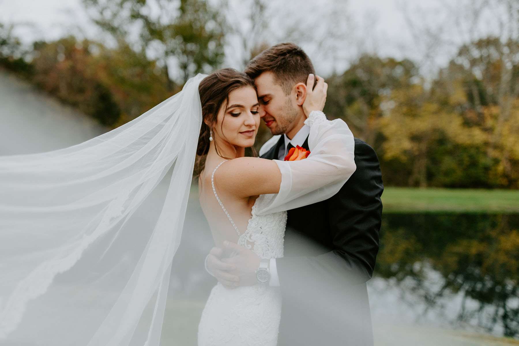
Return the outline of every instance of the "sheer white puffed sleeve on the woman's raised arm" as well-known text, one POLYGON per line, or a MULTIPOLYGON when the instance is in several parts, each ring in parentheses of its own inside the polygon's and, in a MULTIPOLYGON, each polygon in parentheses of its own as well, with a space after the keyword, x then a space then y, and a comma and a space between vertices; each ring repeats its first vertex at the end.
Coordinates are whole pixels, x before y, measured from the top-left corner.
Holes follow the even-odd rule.
POLYGON ((341 119, 327 120, 324 113, 310 113, 310 155, 301 161, 280 161, 279 193, 262 195, 257 214, 275 213, 317 203, 335 195, 356 169, 353 134, 341 119))

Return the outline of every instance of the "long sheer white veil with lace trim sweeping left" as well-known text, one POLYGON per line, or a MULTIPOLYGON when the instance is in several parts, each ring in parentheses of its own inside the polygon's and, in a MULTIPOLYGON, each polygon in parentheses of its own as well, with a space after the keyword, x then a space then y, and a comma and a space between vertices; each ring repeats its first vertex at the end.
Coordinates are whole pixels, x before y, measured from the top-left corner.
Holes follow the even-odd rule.
POLYGON ((159 344, 204 77, 87 142, 0 157, 0 344, 159 344))

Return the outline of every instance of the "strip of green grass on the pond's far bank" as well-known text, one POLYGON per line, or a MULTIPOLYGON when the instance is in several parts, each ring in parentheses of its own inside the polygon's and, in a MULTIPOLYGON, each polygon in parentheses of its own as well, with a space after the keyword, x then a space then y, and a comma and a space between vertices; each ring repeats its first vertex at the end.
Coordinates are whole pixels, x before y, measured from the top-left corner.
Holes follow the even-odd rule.
POLYGON ((519 213, 519 190, 386 187, 384 213, 519 213))

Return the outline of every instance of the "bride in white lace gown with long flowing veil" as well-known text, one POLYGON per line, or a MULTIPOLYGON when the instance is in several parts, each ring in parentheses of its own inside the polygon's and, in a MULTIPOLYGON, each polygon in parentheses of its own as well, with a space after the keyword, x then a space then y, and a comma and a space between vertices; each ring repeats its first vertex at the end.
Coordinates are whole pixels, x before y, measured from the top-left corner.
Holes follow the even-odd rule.
MULTIPOLYGON (((229 69, 87 142, 0 157, 0 343, 157 346, 195 152, 207 154, 199 193, 215 243, 281 257, 285 211, 332 196, 355 169, 347 125, 318 112, 325 84, 307 90, 311 154, 296 162, 243 157, 260 106, 229 69)), ((217 284, 199 344, 275 345, 280 309, 275 287, 217 284)))

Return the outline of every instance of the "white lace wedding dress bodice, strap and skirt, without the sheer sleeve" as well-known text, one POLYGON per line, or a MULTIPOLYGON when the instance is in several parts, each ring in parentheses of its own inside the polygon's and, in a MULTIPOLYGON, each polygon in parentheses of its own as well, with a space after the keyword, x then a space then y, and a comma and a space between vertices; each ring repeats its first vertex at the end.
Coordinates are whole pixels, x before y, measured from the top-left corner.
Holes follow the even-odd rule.
MULTIPOLYGON (((211 176, 213 186, 216 169, 211 176)), ((213 192, 220 201, 216 190, 213 189, 213 192)), ((261 195, 254 202, 247 229, 240 235, 238 244, 250 248, 260 258, 283 257, 286 211, 258 215, 257 205, 262 203, 265 196, 261 195)), ((223 204, 221 205, 226 211, 223 204)), ((231 224, 234 224, 228 213, 226 214, 231 224)), ((206 307, 202 311, 198 327, 198 344, 275 346, 280 318, 279 287, 254 285, 228 289, 218 282, 211 290, 206 307)))

